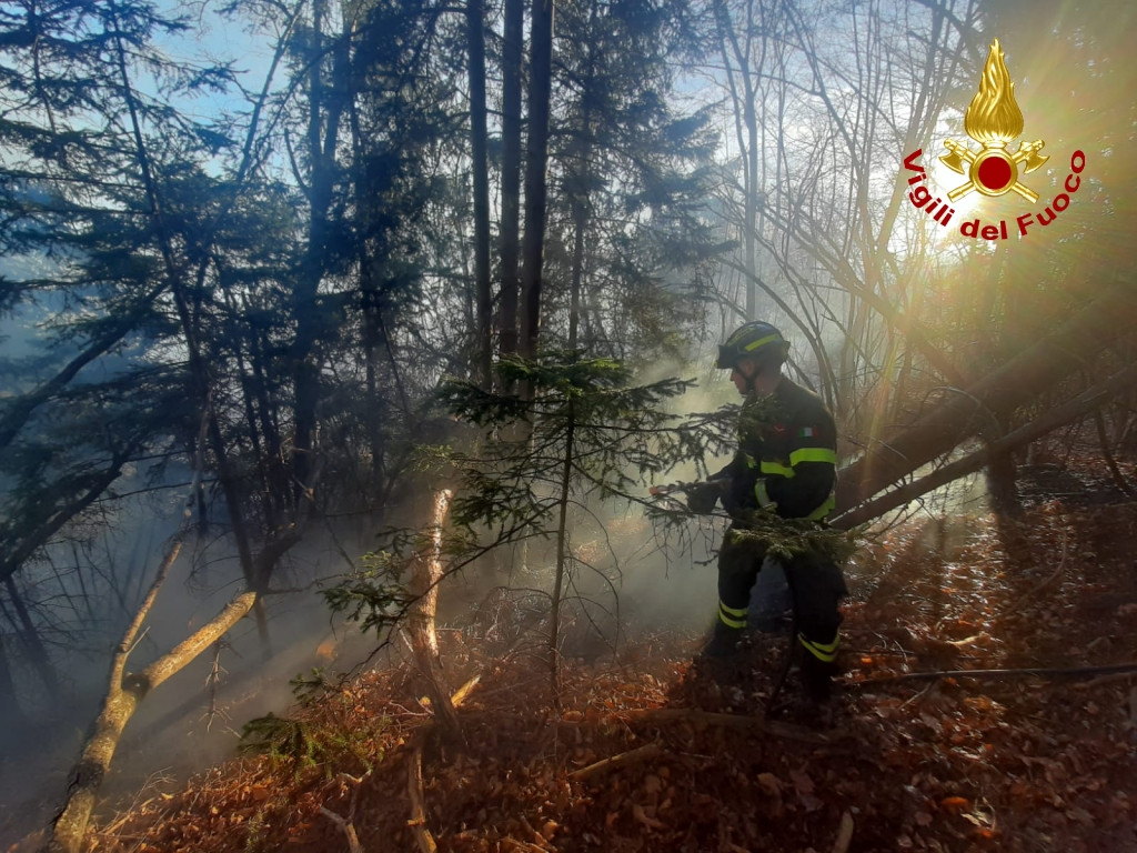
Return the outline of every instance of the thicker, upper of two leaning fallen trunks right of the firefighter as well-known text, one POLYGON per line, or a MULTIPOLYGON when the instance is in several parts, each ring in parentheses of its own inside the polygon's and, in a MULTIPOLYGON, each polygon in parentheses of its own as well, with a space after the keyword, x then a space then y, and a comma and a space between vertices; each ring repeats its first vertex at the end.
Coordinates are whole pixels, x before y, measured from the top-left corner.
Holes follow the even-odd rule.
POLYGON ((1053 334, 956 394, 914 424, 874 440, 840 472, 838 512, 847 513, 881 489, 981 432, 985 424, 1029 403, 1137 324, 1128 285, 1105 292, 1053 334))

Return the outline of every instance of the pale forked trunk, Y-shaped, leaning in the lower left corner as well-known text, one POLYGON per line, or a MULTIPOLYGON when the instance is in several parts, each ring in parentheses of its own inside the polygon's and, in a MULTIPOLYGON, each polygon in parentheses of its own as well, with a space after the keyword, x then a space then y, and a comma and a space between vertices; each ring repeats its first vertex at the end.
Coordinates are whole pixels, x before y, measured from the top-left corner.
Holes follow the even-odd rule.
POLYGON ((150 690, 216 643, 252 608, 257 601, 256 593, 241 593, 225 605, 225 608, 211 622, 202 626, 174 649, 146 666, 141 672, 126 672, 126 659, 134 648, 134 640, 141 630, 142 622, 150 612, 158 589, 169 574, 169 569, 177 560, 181 548, 181 535, 177 535, 166 552, 158 574, 139 606, 134 620, 115 651, 102 710, 99 712, 91 735, 83 746, 78 763, 72 770, 70 781, 67 786, 67 800, 59 817, 56 818, 51 837, 41 848, 41 853, 78 853, 99 788, 110 769, 115 748, 122 739, 123 729, 138 710, 139 704, 150 690))

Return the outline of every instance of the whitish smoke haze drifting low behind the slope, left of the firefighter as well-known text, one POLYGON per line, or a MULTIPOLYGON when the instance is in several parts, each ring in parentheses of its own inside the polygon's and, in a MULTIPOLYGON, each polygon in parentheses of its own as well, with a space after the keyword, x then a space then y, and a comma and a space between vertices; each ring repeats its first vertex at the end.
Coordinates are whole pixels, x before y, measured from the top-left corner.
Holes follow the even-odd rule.
MULTIPOLYGON (((672 401, 673 413, 711 412, 737 401, 724 374, 705 367, 655 364, 637 381, 692 375, 698 375, 698 386, 672 401)), ((713 472, 727 461, 708 459, 708 469, 713 472)), ((667 481, 694 480, 704 473, 690 463, 671 472, 667 481)), ((167 479, 176 482, 189 475, 171 469, 167 479)), ((144 478, 135 472, 132 480, 124 478, 116 483, 116 490, 124 494, 144 486, 144 478)), ((92 558, 101 557, 102 571, 119 579, 123 601, 116 601, 118 594, 103 595, 100 606, 106 613, 97 613, 94 622, 81 626, 83 647, 56 655, 58 669, 69 678, 64 685, 65 707, 47 707, 31 673, 19 673, 22 685, 33 686, 25 688, 22 704, 36 715, 41 728, 35 747, 28 744, 28 748, 10 750, 0 759, 0 847, 43 826, 61 802, 67 773, 106 689, 110 653, 181 522, 185 491, 160 489, 117 503, 113 532, 103 535, 102 552, 91 554, 92 558), (44 744, 49 747, 43 748, 44 744), (28 779, 36 782, 30 785, 28 779)), ((648 499, 646 487, 642 497, 648 499)), ((362 636, 341 618, 333 620, 319 595, 322 583, 357 568, 360 557, 376 547, 381 528, 422 527, 429 500, 430 494, 420 489, 415 499, 382 519, 358 515, 335 520, 324 529, 314 525, 282 561, 272 583, 276 589, 297 591, 265 599, 271 660, 263 662, 254 620, 246 618, 223 638, 219 651, 207 651, 150 694, 127 724, 116 752, 102 789, 103 813, 140 796, 175 790, 193 772, 232 757, 246 722, 269 711, 288 713, 294 702, 290 681, 296 676, 325 668, 325 673, 334 677, 364 662, 381 639, 362 636)), ((213 512, 221 510, 214 507, 213 512)), ((565 589, 563 632, 567 657, 603 659, 622 644, 664 631, 695 637, 712 623, 717 596, 713 558, 724 527, 721 520, 692 519, 680 533, 661 537, 641 505, 617 500, 592 502, 587 511, 575 511, 572 520, 574 561, 565 589)), ((218 530, 223 528, 186 540, 128 669, 141 669, 168 652, 213 619, 242 588, 231 537, 218 530)), ((523 606, 509 611, 513 618, 547 611, 547 596, 526 599, 521 590, 551 590, 555 548, 549 541, 532 541, 524 552, 503 548, 493 561, 496 569, 488 570, 488 563, 482 561, 481 568, 467 568, 443 582, 442 627, 460 628, 480 613, 484 615, 485 603, 495 601, 493 590, 522 601, 523 606)), ((28 577, 35 577, 40 568, 30 565, 28 577)), ((530 630, 534 645, 543 644, 540 619, 530 630)), ((367 665, 388 666, 401 655, 400 644, 395 643, 367 665)))

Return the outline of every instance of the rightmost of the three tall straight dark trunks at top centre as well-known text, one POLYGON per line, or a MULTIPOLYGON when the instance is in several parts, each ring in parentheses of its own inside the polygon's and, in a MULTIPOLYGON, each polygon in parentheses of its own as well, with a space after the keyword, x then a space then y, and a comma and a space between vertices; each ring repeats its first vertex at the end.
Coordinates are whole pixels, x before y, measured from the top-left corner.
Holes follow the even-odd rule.
POLYGON ((522 248, 521 355, 537 355, 541 325, 541 264, 548 197, 549 99, 553 90, 553 0, 533 0, 529 69, 529 140, 525 152, 525 235, 522 248))

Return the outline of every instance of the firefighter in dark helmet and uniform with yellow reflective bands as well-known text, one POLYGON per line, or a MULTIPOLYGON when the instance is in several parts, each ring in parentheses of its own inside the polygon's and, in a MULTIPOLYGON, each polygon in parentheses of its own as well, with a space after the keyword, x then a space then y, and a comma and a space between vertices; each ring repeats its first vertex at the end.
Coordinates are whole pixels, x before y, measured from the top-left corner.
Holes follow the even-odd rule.
MULTIPOLYGON (((746 514, 766 510, 785 519, 823 523, 833 508, 837 431, 821 399, 781 374, 789 345, 769 323, 747 323, 719 347, 717 367, 730 370, 746 398, 739 424, 738 453, 727 467, 689 494, 696 512, 709 512, 722 499, 733 519, 719 552, 719 618, 704 654, 730 655, 746 628, 750 588, 765 554, 753 541, 736 541, 746 514), (749 416, 750 413, 758 413, 749 416)), ((846 595, 840 566, 821 558, 797 557, 783 565, 794 601, 802 679, 807 694, 828 698, 836 669, 846 595)))

